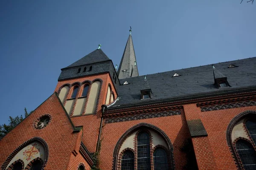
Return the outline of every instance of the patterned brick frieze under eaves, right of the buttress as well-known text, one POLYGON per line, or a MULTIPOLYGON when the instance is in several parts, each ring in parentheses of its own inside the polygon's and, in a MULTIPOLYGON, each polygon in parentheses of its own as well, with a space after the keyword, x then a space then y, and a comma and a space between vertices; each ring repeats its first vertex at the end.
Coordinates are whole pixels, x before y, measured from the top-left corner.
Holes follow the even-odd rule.
POLYGON ((244 101, 244 102, 236 102, 236 103, 227 103, 222 105, 213 105, 207 107, 201 107, 201 111, 217 111, 223 109, 231 109, 231 108, 241 108, 241 107, 248 107, 248 106, 256 106, 256 101, 244 101))

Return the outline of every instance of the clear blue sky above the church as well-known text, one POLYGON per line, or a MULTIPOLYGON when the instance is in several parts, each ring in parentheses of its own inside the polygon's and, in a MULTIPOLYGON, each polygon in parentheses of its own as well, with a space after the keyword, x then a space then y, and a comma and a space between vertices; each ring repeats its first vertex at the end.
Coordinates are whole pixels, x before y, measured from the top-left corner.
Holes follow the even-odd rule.
POLYGON ((256 3, 1 0, 0 124, 34 110, 61 68, 102 44, 120 62, 132 27, 140 75, 256 56, 256 3))

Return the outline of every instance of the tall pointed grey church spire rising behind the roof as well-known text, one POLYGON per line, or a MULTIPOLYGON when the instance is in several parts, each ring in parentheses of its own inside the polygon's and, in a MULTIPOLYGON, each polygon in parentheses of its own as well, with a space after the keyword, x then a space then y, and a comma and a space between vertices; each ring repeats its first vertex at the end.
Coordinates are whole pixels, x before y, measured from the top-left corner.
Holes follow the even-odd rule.
POLYGON ((131 29, 129 31, 130 31, 130 35, 125 45, 125 51, 117 71, 117 75, 119 79, 139 76, 135 52, 134 52, 134 45, 131 37, 131 29))

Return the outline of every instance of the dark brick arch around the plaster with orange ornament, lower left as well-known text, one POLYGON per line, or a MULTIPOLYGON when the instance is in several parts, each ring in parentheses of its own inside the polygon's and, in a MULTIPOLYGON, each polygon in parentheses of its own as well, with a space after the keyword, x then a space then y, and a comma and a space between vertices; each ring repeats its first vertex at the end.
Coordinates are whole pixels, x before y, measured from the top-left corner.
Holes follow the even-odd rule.
POLYGON ((20 146, 18 146, 6 159, 6 161, 4 161, 1 169, 2 170, 6 170, 6 167, 8 166, 8 164, 10 163, 10 161, 12 161, 12 159, 14 158, 14 156, 20 152, 20 150, 22 150, 24 147, 26 147, 28 144, 32 143, 32 142, 40 142, 43 146, 44 146, 44 152, 45 152, 45 158, 44 158, 44 164, 43 167, 45 167, 48 158, 49 158, 49 147, 48 144, 45 142, 44 139, 40 138, 40 137, 33 137, 29 140, 27 140, 26 142, 24 142, 23 144, 21 144, 20 146))

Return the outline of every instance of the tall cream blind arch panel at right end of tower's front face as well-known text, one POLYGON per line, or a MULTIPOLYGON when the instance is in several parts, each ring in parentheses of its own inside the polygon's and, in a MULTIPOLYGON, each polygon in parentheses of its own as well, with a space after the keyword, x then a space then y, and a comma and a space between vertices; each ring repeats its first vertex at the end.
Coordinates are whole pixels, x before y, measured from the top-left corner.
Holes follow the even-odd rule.
POLYGON ((100 81, 93 82, 90 90, 90 96, 87 102, 85 114, 94 113, 96 109, 96 104, 99 98, 100 84, 101 84, 100 81))

